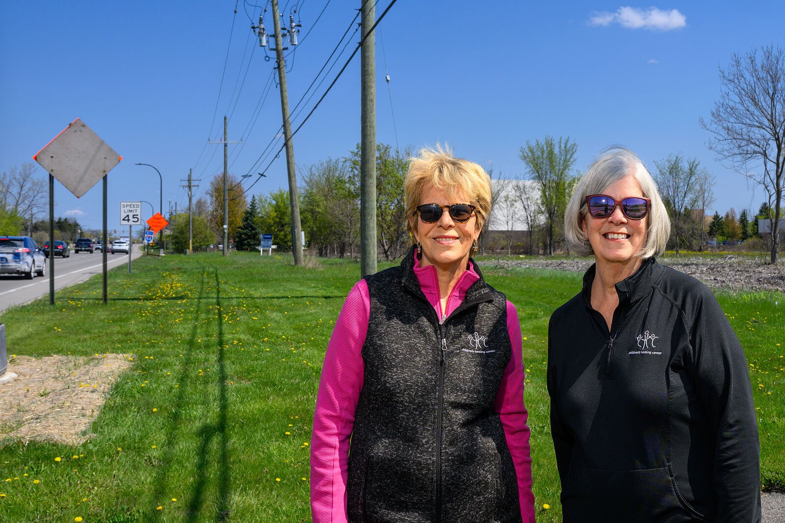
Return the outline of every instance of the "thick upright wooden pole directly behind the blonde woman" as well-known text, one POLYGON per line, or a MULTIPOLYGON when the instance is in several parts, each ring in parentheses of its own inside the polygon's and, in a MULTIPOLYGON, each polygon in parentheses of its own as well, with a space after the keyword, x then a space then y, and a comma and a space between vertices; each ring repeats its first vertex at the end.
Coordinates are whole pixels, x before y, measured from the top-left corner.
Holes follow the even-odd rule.
POLYGON ((373 2, 363 0, 360 49, 360 277, 376 272, 376 12, 373 2))

